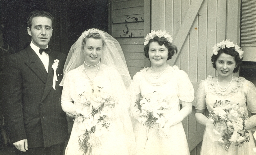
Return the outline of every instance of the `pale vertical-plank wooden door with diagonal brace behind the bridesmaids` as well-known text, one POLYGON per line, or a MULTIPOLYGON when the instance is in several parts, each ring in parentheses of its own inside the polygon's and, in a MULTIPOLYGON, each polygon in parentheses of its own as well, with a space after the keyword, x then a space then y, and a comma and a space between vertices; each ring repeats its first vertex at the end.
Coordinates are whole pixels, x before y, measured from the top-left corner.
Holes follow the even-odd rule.
MULTIPOLYGON (((184 70, 196 91, 201 80, 208 75, 216 76, 211 62, 214 44, 225 39, 239 44, 240 1, 151 0, 151 3, 151 28, 166 30, 173 36, 173 44, 179 45, 178 55, 168 63, 184 70)), ((199 154, 204 126, 196 122, 194 113, 193 108, 182 123, 191 154, 199 154)))

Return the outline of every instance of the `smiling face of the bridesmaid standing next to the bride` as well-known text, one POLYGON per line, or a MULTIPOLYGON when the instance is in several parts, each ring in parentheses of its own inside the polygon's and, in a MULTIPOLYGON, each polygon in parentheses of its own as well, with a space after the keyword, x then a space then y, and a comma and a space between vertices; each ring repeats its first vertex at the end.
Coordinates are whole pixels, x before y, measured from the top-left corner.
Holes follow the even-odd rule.
POLYGON ((167 63, 168 49, 164 44, 160 46, 158 42, 150 42, 148 55, 152 65, 162 66, 167 63))

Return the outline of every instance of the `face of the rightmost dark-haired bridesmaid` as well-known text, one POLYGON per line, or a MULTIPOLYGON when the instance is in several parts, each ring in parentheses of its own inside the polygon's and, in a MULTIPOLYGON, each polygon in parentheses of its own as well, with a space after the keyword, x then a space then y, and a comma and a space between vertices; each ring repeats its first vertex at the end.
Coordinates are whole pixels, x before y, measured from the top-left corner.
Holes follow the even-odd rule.
POLYGON ((236 68, 235 57, 226 53, 222 53, 216 61, 216 69, 219 76, 232 76, 233 70, 236 68))

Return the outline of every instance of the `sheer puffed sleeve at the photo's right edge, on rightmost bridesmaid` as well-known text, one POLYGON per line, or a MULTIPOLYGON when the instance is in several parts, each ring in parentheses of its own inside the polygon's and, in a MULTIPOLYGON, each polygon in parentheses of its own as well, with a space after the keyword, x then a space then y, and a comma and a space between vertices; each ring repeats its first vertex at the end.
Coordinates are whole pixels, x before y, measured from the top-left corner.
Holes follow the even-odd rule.
POLYGON ((248 110, 251 113, 256 113, 256 88, 252 82, 245 81, 247 81, 245 86, 247 87, 246 102, 248 110))

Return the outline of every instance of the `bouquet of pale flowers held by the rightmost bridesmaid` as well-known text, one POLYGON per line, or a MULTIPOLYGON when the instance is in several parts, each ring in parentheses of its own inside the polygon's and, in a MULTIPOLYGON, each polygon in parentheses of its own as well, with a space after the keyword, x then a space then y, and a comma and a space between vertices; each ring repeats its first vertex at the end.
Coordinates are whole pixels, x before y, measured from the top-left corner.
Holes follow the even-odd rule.
POLYGON ((245 108, 230 101, 217 101, 209 112, 209 119, 215 126, 213 133, 219 136, 218 142, 228 150, 230 144, 241 146, 249 142, 249 132, 245 130, 245 120, 248 118, 245 108))

